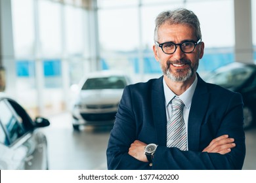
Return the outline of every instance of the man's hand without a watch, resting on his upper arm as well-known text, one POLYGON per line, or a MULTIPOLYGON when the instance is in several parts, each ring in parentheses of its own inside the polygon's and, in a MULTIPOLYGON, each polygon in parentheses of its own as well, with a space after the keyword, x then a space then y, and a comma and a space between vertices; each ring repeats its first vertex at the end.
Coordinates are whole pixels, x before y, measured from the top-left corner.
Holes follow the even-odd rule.
POLYGON ((217 152, 219 154, 226 154, 231 151, 231 148, 234 148, 236 144, 234 143, 234 139, 228 138, 228 135, 221 135, 210 144, 204 148, 203 152, 217 152))

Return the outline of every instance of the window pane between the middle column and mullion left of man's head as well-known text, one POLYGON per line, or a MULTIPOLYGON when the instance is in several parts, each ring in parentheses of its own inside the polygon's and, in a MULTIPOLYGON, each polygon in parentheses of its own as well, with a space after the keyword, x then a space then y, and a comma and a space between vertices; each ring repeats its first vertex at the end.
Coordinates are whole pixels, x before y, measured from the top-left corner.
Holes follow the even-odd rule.
POLYGON ((134 73, 138 58, 138 1, 98 1, 98 35, 102 69, 134 73), (136 28, 135 28, 136 27, 136 28))

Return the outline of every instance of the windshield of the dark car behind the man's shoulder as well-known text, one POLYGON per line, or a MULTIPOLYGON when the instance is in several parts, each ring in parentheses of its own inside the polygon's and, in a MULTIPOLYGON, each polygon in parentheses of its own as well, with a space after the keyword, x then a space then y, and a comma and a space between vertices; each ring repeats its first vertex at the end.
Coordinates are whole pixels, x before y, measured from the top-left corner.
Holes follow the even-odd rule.
POLYGON ((223 70, 212 75, 207 82, 223 86, 224 88, 233 88, 244 84, 245 80, 247 80, 252 73, 253 68, 251 67, 223 70))

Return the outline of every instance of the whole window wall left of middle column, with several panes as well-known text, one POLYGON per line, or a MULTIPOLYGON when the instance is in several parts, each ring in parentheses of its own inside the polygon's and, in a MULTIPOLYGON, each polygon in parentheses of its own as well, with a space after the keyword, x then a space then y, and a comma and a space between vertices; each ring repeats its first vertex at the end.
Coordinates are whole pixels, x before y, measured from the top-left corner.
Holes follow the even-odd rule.
POLYGON ((87 19, 85 1, 12 0, 16 95, 32 116, 70 105, 90 67, 87 19))

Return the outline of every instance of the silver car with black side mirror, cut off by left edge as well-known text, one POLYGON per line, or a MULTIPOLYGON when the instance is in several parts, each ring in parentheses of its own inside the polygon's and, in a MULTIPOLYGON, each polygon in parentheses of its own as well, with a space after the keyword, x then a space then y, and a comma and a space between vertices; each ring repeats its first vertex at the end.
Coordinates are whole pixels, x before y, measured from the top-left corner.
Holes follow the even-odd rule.
POLYGON ((32 120, 16 101, 0 93, 0 169, 48 169, 47 139, 38 127, 49 124, 41 117, 32 120))

